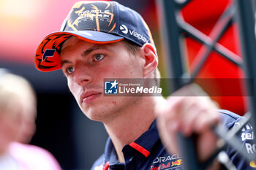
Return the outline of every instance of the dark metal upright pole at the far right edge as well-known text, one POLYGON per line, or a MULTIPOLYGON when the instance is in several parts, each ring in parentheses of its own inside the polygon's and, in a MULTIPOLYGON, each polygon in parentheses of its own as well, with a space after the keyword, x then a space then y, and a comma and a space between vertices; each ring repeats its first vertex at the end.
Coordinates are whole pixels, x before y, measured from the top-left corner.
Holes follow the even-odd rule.
POLYGON ((255 127, 256 123, 256 93, 254 86, 256 81, 256 39, 255 39, 255 12, 252 0, 236 0, 238 28, 241 41, 241 53, 244 61, 246 78, 252 78, 253 82, 246 81, 246 91, 249 94, 248 104, 251 112, 250 122, 255 127))

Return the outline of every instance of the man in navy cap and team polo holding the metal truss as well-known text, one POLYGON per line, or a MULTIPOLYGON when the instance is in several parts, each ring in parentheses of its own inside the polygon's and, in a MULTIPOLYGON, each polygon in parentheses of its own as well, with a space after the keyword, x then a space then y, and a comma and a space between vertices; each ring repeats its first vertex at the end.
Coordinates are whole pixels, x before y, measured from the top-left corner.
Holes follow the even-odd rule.
MULTIPOLYGON (((165 100, 154 96, 104 95, 105 78, 159 78, 151 33, 132 9, 114 1, 76 3, 61 31, 49 34, 39 44, 35 64, 42 72, 62 69, 83 113, 105 125, 110 136, 105 154, 91 169, 183 169, 176 149, 178 132, 185 136, 197 134, 200 161, 206 161, 217 149, 217 137, 211 127, 219 123, 220 117, 208 97, 165 100), (159 139, 157 116, 159 132, 170 153, 159 139)), ((177 93, 194 90, 186 87, 177 93)), ((230 112, 223 115, 228 128, 240 119, 230 112)), ((244 160, 234 163, 239 169, 246 167, 244 160)), ((212 169, 218 167, 211 165, 212 169)))

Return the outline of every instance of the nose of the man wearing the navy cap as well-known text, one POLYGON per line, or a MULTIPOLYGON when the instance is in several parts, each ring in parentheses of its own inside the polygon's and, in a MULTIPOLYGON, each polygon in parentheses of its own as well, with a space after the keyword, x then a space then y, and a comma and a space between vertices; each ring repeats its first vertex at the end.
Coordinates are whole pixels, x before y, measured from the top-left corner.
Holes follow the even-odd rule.
POLYGON ((91 82, 92 77, 89 73, 89 68, 83 63, 77 63, 74 72, 74 81, 78 85, 86 85, 91 82))

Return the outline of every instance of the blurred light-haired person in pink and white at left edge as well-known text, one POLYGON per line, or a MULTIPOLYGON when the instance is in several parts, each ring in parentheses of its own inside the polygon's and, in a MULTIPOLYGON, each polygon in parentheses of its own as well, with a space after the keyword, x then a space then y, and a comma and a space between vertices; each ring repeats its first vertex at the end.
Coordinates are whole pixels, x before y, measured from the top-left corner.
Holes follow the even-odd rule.
POLYGON ((50 152, 28 144, 36 131, 36 116, 36 95, 29 82, 18 75, 0 72, 1 170, 61 169, 50 152))

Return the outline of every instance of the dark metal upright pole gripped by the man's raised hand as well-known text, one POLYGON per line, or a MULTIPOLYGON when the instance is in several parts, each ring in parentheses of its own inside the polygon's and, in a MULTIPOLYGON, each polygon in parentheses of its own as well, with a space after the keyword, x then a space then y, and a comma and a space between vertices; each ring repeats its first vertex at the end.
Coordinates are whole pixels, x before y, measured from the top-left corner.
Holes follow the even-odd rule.
MULTIPOLYGON (((176 2, 174 0, 159 0, 159 11, 162 12, 162 28, 165 35, 165 48, 167 55, 168 74, 170 78, 176 78, 169 82, 171 92, 178 90, 185 83, 182 81, 184 77, 184 61, 181 55, 180 33, 181 28, 176 20, 176 2)), ((198 170, 197 157, 195 155, 195 144, 192 137, 185 138, 182 134, 178 134, 179 151, 181 152, 184 168, 190 170, 198 170)))

